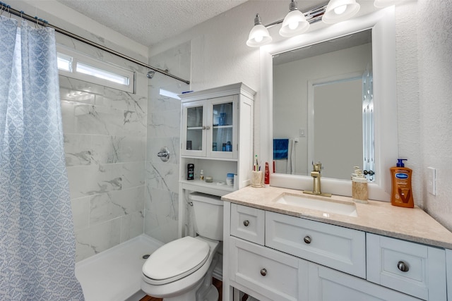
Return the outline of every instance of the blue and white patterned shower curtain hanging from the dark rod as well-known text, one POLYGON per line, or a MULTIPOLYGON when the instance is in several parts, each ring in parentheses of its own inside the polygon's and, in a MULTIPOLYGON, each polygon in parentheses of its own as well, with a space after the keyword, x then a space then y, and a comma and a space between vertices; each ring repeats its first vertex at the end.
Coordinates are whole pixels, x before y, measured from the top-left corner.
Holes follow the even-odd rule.
POLYGON ((0 300, 84 300, 54 30, 0 16, 0 300))

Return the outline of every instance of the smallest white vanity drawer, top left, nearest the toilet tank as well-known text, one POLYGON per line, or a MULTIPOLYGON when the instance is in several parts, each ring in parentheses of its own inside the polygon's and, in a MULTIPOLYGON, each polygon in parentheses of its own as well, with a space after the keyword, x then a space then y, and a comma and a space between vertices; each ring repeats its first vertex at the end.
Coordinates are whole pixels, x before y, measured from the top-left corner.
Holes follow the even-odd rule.
POLYGON ((263 245, 265 211, 231 204, 231 235, 263 245))

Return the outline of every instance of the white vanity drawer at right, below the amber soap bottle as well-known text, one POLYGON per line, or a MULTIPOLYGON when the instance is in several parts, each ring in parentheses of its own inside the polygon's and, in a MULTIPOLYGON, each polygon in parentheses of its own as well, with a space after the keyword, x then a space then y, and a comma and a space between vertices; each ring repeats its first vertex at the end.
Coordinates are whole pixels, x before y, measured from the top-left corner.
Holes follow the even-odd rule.
POLYGON ((423 300, 446 301, 446 252, 367 233, 367 280, 423 300))

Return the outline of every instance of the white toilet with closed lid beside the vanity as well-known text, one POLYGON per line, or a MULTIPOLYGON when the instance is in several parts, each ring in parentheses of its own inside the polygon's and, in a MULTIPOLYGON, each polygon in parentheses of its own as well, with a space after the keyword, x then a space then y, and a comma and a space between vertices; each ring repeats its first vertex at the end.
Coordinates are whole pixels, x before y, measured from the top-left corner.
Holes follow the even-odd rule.
POLYGON ((141 290, 164 301, 217 301, 212 274, 223 237, 223 203, 200 192, 189 199, 198 236, 173 240, 153 252, 143 264, 141 290))

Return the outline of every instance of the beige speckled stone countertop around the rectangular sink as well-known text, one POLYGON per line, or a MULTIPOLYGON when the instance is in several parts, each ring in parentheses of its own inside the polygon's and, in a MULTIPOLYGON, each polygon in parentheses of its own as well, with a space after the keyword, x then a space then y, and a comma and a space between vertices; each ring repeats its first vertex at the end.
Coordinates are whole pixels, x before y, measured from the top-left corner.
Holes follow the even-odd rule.
POLYGON ((331 198, 307 195, 302 190, 268 187, 252 188, 248 186, 236 190, 222 197, 222 200, 254 207, 267 211, 278 212, 290 216, 302 217, 313 221, 331 223, 336 226, 353 228, 379 235, 385 235, 412 242, 420 242, 425 245, 452 249, 452 233, 441 226, 432 216, 429 216, 419 207, 403 208, 392 206, 389 202, 369 200, 368 204, 360 204, 352 201, 351 197, 333 195, 331 198), (278 204, 278 199, 283 194, 300 195, 302 197, 326 199, 330 202, 345 202, 355 204, 357 216, 345 216, 314 209, 305 209, 289 204, 278 204))

